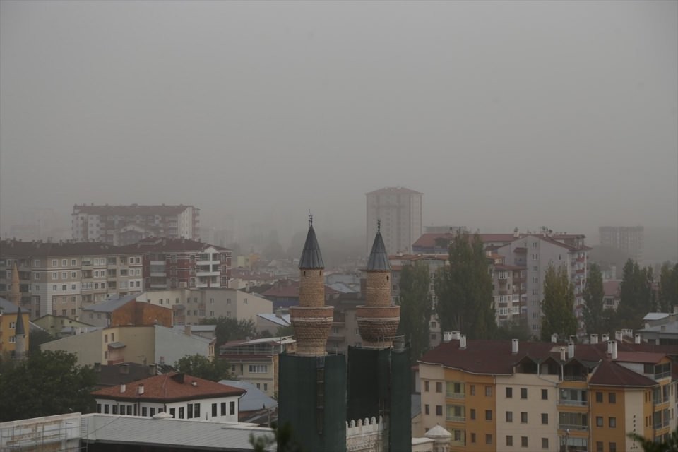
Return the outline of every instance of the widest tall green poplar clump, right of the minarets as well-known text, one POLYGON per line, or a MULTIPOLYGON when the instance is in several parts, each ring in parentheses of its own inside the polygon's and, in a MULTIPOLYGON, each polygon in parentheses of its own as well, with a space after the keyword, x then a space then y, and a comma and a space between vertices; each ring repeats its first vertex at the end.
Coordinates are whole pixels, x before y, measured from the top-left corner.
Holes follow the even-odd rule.
POLYGON ((439 269, 434 282, 442 331, 491 338, 496 331, 492 277, 480 235, 457 234, 448 252, 449 265, 439 269))

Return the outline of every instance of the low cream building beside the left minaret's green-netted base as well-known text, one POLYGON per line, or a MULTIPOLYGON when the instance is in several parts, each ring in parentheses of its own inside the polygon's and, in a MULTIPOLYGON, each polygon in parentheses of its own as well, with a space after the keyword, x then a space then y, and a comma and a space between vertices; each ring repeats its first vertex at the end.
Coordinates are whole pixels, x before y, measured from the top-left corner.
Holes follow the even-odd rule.
POLYGON ((219 347, 219 359, 231 366, 231 373, 247 381, 270 397, 278 397, 280 353, 294 353, 297 341, 292 336, 233 340, 219 347))

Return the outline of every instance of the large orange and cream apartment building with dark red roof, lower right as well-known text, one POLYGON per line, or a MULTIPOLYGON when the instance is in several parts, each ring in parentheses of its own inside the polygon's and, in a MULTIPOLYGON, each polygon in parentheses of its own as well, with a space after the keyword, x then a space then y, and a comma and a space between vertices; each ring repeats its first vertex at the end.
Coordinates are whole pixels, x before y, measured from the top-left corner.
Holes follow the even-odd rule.
POLYGON ((419 371, 422 425, 451 432, 451 451, 633 451, 626 434, 662 440, 676 428, 676 350, 445 335, 419 371))

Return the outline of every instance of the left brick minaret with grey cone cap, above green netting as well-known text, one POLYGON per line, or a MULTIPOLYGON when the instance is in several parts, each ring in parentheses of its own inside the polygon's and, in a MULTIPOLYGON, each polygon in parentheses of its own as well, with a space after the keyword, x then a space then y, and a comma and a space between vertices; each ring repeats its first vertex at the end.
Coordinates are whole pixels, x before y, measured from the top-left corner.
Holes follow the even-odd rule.
POLYGON ((323 356, 332 322, 334 308, 325 306, 325 264, 309 218, 302 258, 299 260, 299 306, 290 308, 292 327, 297 338, 297 355, 323 356))

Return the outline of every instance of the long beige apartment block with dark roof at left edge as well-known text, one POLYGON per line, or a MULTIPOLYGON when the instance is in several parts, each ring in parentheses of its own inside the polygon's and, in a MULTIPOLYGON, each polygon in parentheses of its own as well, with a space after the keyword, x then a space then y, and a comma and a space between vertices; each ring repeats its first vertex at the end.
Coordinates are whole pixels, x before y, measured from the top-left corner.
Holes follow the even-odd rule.
POLYGON ((143 290, 142 254, 89 242, 0 241, 0 296, 11 292, 18 268, 21 304, 31 319, 46 314, 78 318, 80 309, 108 295, 143 290))

